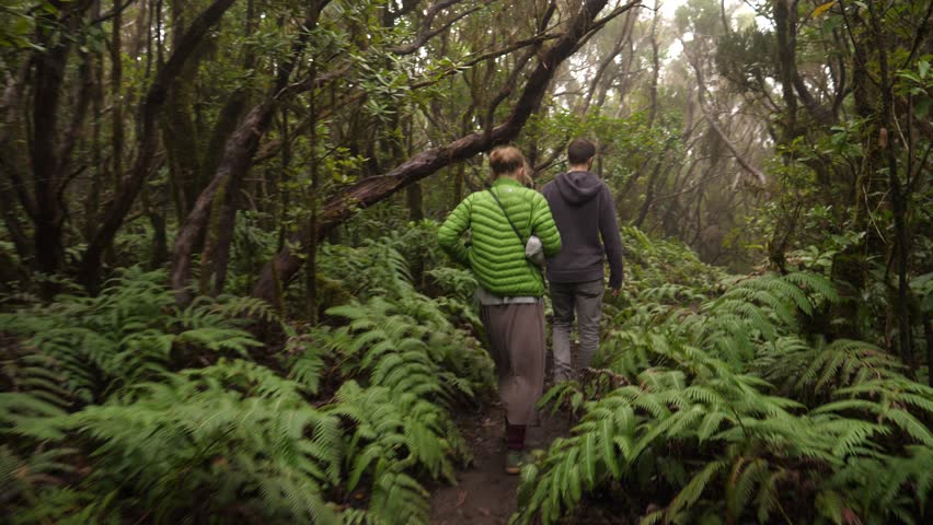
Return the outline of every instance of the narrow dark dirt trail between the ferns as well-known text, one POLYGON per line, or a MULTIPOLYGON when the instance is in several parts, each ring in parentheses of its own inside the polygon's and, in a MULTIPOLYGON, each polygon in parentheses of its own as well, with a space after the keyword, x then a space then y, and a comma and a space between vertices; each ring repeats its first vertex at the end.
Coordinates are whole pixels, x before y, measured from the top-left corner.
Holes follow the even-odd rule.
MULTIPOLYGON (((505 474, 503 409, 493 406, 479 415, 458 418, 463 438, 473 446, 473 466, 457 476, 456 487, 440 487, 431 494, 435 525, 500 525, 515 512, 519 476, 505 474)), ((546 448, 569 433, 567 417, 542 415, 541 424, 528 429, 531 448, 546 448)))

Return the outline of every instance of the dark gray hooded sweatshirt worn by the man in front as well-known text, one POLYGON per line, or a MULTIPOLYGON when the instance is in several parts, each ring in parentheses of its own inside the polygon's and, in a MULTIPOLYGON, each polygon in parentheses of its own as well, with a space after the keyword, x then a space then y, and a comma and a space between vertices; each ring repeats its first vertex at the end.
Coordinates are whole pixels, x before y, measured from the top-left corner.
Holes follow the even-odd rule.
POLYGON ((609 259, 609 288, 622 285, 622 237, 609 186, 590 172, 569 172, 544 186, 561 232, 561 253, 548 260, 552 282, 587 282, 603 278, 609 259), (600 236, 602 241, 600 241, 600 236))

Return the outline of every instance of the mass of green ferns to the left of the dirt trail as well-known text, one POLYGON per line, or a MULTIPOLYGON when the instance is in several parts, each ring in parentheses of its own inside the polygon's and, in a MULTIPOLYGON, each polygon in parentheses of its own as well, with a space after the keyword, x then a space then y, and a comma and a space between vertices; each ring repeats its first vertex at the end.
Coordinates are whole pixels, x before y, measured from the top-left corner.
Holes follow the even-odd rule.
POLYGON ((96 298, 1 315, 4 506, 24 524, 428 523, 424 480, 471 460, 451 411, 495 392, 451 315, 465 294, 411 282, 401 250, 431 228, 357 248, 365 266, 324 259, 373 284, 329 310, 335 326, 249 298, 181 308, 164 272, 137 269, 96 298), (284 331, 272 360, 256 323, 284 331))

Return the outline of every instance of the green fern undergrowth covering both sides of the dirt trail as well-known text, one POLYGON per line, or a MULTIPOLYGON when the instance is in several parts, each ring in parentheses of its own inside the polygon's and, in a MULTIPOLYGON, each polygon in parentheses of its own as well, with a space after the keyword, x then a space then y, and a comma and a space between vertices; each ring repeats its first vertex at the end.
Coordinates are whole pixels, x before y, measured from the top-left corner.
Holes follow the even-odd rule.
MULTIPOLYGON (((10 523, 428 523, 428 487, 471 460, 453 415, 495 397, 475 281, 436 229, 323 246, 318 326, 180 307, 136 267, 96 296, 3 298, 10 523)), ((522 471, 514 522, 924 523, 933 389, 820 331, 825 267, 732 276, 623 238, 596 368, 542 399, 578 424, 522 471)))

